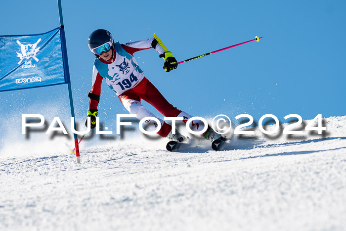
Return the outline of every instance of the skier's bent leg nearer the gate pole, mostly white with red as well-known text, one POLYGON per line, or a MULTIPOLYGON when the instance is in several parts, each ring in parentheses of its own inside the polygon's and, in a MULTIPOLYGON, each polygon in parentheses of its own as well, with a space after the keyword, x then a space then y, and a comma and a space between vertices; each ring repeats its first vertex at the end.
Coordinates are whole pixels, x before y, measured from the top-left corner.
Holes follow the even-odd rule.
MULTIPOLYGON (((125 106, 125 108, 130 112, 130 114, 136 114, 136 118, 138 120, 141 120, 145 117, 152 116, 157 118, 153 113, 151 113, 149 110, 147 110, 141 103, 140 103, 140 98, 131 93, 127 94, 122 94, 119 95, 119 99, 122 102, 122 104, 125 106)), ((161 129, 157 133, 162 137, 167 137, 168 134, 172 130, 172 126, 165 123, 162 119, 157 118, 161 122, 161 129)), ((150 131, 154 131, 157 128, 157 123, 154 120, 146 120, 145 123, 146 127, 150 131)))

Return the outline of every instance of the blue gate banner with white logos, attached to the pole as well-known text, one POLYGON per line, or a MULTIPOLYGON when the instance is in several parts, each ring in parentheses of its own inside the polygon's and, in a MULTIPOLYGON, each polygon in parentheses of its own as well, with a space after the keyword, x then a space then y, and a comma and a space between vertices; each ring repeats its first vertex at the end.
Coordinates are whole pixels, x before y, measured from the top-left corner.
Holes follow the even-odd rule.
POLYGON ((61 47, 60 28, 0 36, 0 92, 69 83, 61 47))

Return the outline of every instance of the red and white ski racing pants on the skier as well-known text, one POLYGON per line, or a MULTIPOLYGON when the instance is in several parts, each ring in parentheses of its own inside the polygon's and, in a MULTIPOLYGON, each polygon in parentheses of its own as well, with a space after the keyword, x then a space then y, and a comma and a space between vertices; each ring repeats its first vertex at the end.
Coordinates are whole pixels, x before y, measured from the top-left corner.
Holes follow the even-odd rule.
MULTIPOLYGON (((167 101, 167 99, 157 90, 157 88, 150 83, 147 78, 143 78, 139 84, 119 95, 119 99, 125 108, 130 112, 130 114, 136 114, 136 118, 141 120, 147 116, 152 116, 157 118, 152 112, 147 110, 141 103, 141 99, 150 103, 153 107, 155 107, 162 115, 165 117, 183 117, 184 122, 190 119, 192 116, 187 114, 184 111, 178 110, 171 103, 167 101)), ((172 126, 164 122, 162 119, 158 118, 161 122, 161 129, 157 133, 162 137, 167 137, 168 134, 172 130, 172 126)), ((192 131, 201 131, 204 128, 204 124, 202 121, 193 121, 193 126, 190 124, 190 129, 192 131), (199 126, 199 125, 202 126, 199 126)), ((146 125, 149 130, 156 130, 155 121, 149 120, 146 121, 146 125)))

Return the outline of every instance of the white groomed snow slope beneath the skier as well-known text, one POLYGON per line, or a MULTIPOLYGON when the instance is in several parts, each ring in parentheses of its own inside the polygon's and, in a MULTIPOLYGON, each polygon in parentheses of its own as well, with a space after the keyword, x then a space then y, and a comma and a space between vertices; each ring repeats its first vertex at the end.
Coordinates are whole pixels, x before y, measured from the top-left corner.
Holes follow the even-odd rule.
POLYGON ((324 120, 325 136, 256 131, 219 152, 138 138, 82 146, 80 164, 1 154, 0 230, 345 230, 346 116, 324 120))

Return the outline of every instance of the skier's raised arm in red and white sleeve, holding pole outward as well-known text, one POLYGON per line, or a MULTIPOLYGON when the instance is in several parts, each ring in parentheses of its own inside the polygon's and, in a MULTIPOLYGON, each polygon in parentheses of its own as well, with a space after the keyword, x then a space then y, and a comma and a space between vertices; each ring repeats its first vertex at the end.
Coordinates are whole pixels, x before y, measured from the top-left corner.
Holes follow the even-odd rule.
POLYGON ((158 44, 158 42, 152 38, 152 39, 146 39, 146 40, 140 40, 133 43, 126 43, 121 45, 126 52, 133 55, 134 52, 137 52, 139 50, 145 50, 149 48, 154 48, 157 52, 160 54, 165 53, 165 50, 158 44))

